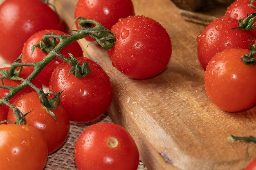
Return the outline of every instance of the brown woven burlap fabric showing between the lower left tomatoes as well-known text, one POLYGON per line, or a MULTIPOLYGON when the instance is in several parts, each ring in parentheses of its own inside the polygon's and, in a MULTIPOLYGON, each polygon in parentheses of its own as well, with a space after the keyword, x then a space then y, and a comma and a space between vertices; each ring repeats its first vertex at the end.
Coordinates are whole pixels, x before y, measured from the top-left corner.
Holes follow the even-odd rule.
MULTIPOLYGON (((74 161, 74 146, 76 139, 86 127, 98 122, 113 122, 108 114, 103 115, 97 121, 88 124, 77 124, 70 122, 70 132, 65 144, 56 152, 48 156, 44 170, 78 170, 74 161)), ((125 166, 125 165, 124 165, 125 166)), ((102 168, 104 170, 104 167, 102 168)), ((122 170, 122 167, 120 167, 122 170)), ((139 162, 138 170, 146 170, 143 163, 139 162)))

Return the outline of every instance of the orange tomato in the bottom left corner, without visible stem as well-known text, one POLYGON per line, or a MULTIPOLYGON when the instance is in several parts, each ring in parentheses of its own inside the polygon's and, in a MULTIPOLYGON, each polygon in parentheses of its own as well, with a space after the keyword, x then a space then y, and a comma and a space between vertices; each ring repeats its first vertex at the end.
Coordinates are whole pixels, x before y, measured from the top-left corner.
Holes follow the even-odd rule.
POLYGON ((42 133, 26 125, 0 125, 1 170, 43 170, 47 143, 42 133))

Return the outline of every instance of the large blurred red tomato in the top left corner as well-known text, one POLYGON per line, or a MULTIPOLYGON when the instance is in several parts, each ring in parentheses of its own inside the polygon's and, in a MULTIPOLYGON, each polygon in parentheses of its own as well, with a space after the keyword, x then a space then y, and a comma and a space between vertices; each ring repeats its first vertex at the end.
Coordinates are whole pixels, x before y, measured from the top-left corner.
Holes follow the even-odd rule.
POLYGON ((5 0, 0 5, 0 56, 18 58, 23 44, 34 33, 60 28, 58 15, 40 0, 5 0))

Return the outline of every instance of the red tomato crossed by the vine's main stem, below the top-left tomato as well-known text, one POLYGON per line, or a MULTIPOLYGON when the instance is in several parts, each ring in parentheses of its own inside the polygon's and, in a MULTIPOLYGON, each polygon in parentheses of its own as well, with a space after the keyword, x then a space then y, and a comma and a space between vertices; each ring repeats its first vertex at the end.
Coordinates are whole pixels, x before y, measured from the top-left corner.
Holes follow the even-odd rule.
MULTIPOLYGON (((46 33, 55 33, 58 35, 67 35, 66 33, 63 33, 58 30, 43 30, 38 33, 35 33, 32 35, 27 42, 24 44, 23 47, 23 55, 22 55, 22 62, 40 62, 43 60, 48 53, 43 53, 39 48, 35 48, 34 53, 31 55, 31 47, 35 44, 38 44, 40 40, 42 40, 43 35, 46 33)), ((71 53, 75 57, 83 57, 83 51, 81 47, 79 46, 78 42, 72 42, 68 46, 66 46, 62 51, 61 55, 70 58, 70 55, 68 53, 71 53)), ((49 81, 52 75, 52 72, 60 64, 63 62, 63 60, 59 59, 58 57, 55 57, 52 62, 50 62, 43 70, 38 74, 37 78, 40 79, 43 85, 49 86, 49 81)), ((31 72, 34 70, 33 67, 27 67, 31 72)))

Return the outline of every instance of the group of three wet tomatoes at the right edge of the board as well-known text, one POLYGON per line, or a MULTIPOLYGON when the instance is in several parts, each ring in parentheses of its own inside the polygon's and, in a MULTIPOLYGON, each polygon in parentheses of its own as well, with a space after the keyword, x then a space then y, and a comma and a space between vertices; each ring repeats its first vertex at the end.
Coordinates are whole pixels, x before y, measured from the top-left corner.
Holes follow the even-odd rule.
POLYGON ((236 0, 223 17, 213 20, 197 38, 207 95, 228 112, 256 104, 255 4, 252 0, 236 0), (247 57, 251 62, 245 60, 247 57))

